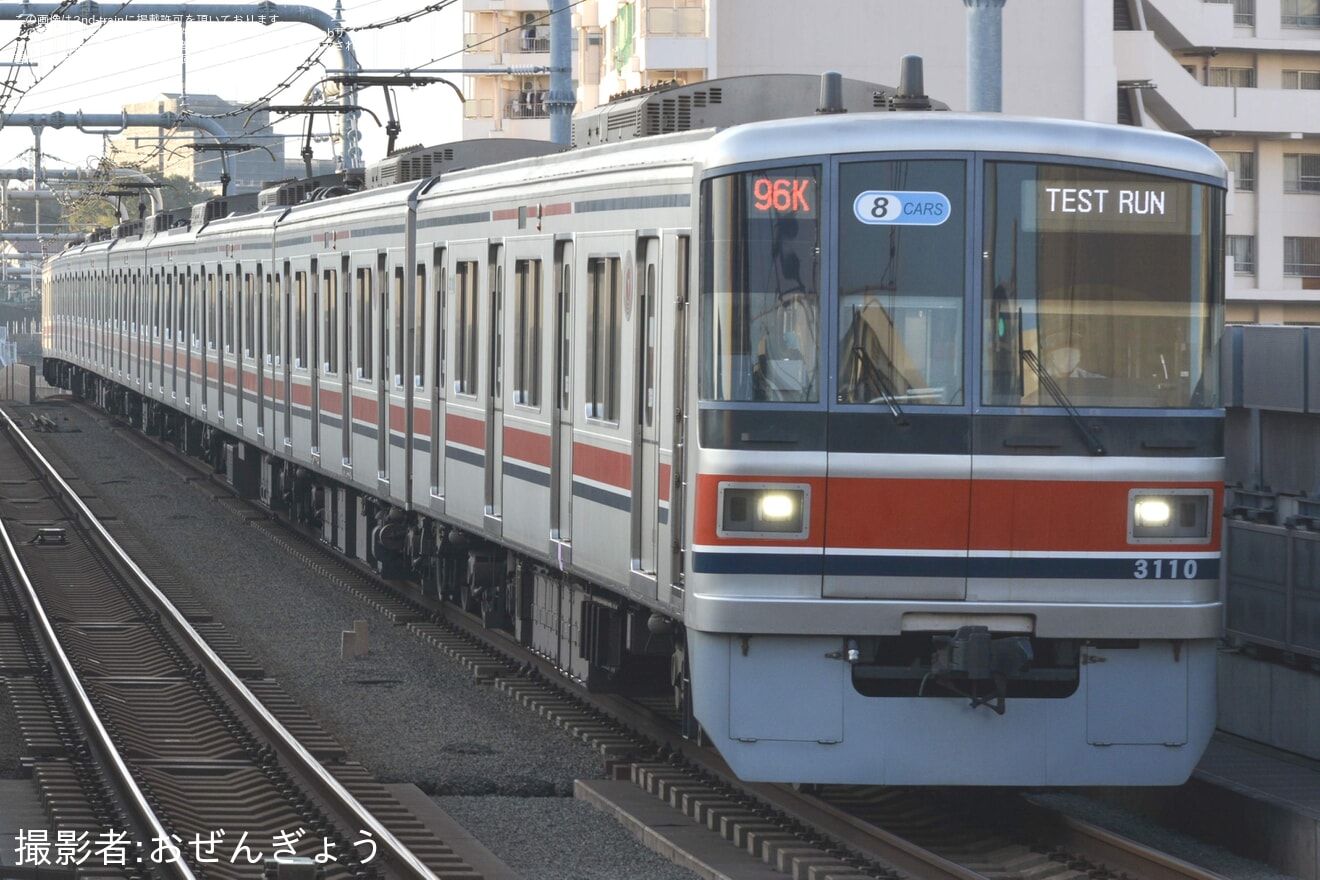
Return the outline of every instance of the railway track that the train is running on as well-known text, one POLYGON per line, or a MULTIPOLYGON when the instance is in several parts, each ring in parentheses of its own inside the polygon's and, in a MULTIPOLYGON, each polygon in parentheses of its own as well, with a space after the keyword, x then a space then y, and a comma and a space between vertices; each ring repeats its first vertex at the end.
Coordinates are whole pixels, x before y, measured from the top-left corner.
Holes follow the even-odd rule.
MULTIPOLYGON (((173 450, 136 433, 156 455, 173 450)), ((174 460, 172 467, 209 468, 174 460)), ((744 785, 718 753, 682 740, 665 701, 587 694, 478 617, 376 579, 314 534, 264 511, 247 517, 304 563, 471 673, 593 744, 632 780, 694 822, 788 876, 1127 877, 1216 880, 1196 865, 1002 792, 744 785)))

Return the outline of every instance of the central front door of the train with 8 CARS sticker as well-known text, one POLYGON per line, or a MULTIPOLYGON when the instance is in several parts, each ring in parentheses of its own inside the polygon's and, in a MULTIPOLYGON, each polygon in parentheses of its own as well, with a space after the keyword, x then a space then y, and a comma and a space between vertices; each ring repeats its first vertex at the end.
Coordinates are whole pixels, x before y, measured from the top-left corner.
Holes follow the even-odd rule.
MULTIPOLYGON (((781 265, 799 272, 812 301, 780 292, 774 327, 792 331, 795 351, 825 352, 833 373, 834 388, 825 396, 830 553, 824 595, 962 600, 972 520, 965 292, 972 289, 974 218, 968 164, 849 160, 834 170, 837 249, 828 267, 814 265, 821 237, 812 216, 816 203, 795 198, 797 235, 777 252, 781 265), (916 197, 928 201, 895 202, 916 197), (898 211, 903 204, 933 206, 940 220, 898 211), (822 323, 833 322, 833 330, 820 334, 818 343, 814 327, 801 321, 804 307, 816 307, 816 289, 836 292, 820 299, 828 303, 822 323), (803 346, 808 339, 812 344, 803 346)), ((804 191, 813 191, 809 182, 804 191)), ((814 507, 816 486, 810 488, 814 507)))

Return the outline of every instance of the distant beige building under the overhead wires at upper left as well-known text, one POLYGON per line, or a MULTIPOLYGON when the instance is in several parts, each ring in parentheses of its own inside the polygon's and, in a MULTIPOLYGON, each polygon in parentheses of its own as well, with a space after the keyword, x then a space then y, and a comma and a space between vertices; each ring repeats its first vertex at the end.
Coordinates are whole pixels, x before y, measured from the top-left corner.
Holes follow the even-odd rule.
MULTIPOLYGON (((246 111, 243 104, 215 95, 189 95, 187 110, 211 116, 235 142, 256 149, 230 153, 230 191, 255 190, 268 181, 286 177, 284 137, 269 127, 268 111, 246 111)), ((127 113, 178 113, 180 95, 161 94, 140 104, 124 107, 127 113)), ((110 157, 121 166, 137 168, 148 174, 182 177, 219 191, 223 164, 220 153, 209 149, 215 139, 197 128, 166 131, 161 128, 127 128, 110 142, 110 157)))

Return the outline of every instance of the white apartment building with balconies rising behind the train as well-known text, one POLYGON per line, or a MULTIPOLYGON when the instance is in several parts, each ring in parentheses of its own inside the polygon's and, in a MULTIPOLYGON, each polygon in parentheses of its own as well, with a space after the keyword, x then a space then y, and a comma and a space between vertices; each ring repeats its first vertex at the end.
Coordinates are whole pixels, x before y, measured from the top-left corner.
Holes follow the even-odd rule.
MULTIPOLYGON (((587 0, 572 7, 578 111, 668 80, 760 73, 896 84, 968 106, 968 5, 995 0, 587 0)), ((463 66, 549 65, 546 0, 463 0, 463 66)), ((1229 321, 1320 323, 1320 0, 1006 0, 1005 113, 1179 132, 1220 152, 1229 321)), ((546 137, 548 74, 465 77, 465 137, 546 137)))

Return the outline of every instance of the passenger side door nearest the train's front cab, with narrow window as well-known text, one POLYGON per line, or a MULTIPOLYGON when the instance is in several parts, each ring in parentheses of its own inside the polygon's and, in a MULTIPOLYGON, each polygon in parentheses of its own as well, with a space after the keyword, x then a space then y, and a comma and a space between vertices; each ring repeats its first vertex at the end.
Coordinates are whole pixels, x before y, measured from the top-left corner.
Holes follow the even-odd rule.
MULTIPOLYGON (((628 267, 631 270, 632 267, 628 267)), ((627 285, 627 282, 624 282, 627 285)), ((660 285, 660 239, 638 239, 636 280, 636 376, 632 429, 632 570, 656 577, 656 544, 660 513, 660 418, 656 387, 656 355, 660 327, 656 299, 660 285)), ((627 288, 624 288, 627 289, 627 288)), ((627 297, 627 294, 624 294, 627 297)), ((627 298, 624 299, 627 313, 627 298)))

